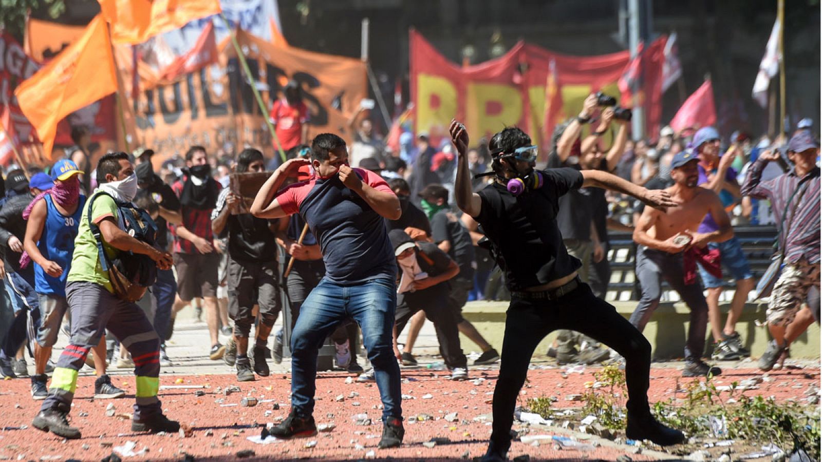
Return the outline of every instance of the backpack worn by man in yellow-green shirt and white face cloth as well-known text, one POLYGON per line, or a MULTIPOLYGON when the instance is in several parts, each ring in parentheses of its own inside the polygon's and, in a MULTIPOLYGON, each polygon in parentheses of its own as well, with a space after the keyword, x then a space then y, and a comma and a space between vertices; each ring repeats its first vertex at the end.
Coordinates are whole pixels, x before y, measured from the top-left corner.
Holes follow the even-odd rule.
POLYGON ((145 291, 157 281, 157 264, 150 256, 134 252, 120 251, 113 259, 106 255, 99 227, 91 221, 91 207, 99 196, 109 196, 113 199, 125 227, 124 231, 132 238, 154 246, 157 238, 157 225, 145 210, 138 209, 130 202, 118 201, 106 192, 98 192, 89 200, 87 214, 89 229, 97 241, 100 266, 109 274, 114 295, 126 302, 136 302, 143 298, 145 291))

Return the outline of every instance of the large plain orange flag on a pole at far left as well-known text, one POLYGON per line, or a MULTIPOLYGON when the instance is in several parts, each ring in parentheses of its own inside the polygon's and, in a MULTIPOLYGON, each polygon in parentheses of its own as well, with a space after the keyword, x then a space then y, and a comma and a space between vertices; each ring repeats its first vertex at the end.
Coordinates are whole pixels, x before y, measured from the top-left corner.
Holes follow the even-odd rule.
POLYGON ((85 27, 80 39, 23 81, 14 95, 51 155, 57 124, 68 114, 117 91, 109 30, 103 16, 85 27))

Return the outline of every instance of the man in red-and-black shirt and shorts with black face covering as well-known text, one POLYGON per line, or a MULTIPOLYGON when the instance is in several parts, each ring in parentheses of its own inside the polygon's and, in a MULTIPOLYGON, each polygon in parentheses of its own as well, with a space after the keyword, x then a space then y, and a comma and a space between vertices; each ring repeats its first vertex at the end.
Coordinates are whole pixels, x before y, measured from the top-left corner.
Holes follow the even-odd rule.
POLYGON ((219 182, 211 178, 211 166, 202 146, 186 152, 185 175, 171 187, 180 197, 182 224, 173 226, 174 268, 177 270, 177 298, 173 313, 182 310, 193 298, 202 298, 211 336, 209 358, 223 358, 225 347, 219 344, 217 307, 217 268, 220 256, 215 252, 211 232, 211 210, 219 196, 219 182))

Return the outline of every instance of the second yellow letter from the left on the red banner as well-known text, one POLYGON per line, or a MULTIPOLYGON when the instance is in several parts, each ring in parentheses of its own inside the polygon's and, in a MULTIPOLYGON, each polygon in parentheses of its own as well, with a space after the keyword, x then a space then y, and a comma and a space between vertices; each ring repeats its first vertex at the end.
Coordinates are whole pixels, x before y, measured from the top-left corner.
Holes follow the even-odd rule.
POLYGON ((492 135, 522 119, 522 95, 515 86, 469 83, 465 93, 466 125, 476 136, 492 135))

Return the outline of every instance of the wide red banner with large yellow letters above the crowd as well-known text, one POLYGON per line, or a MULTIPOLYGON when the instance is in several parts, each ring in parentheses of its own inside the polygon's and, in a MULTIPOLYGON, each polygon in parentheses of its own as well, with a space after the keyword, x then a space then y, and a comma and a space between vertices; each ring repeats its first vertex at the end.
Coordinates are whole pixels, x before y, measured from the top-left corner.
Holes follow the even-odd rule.
MULTIPOLYGON (((436 142, 446 136, 450 119, 458 118, 478 140, 516 125, 547 147, 556 123, 578 113, 591 92, 620 95, 617 82, 629 59, 627 51, 573 57, 520 42, 501 58, 459 67, 411 30, 416 131, 436 142)), ((658 126, 659 113, 655 117, 649 127, 658 126)))

